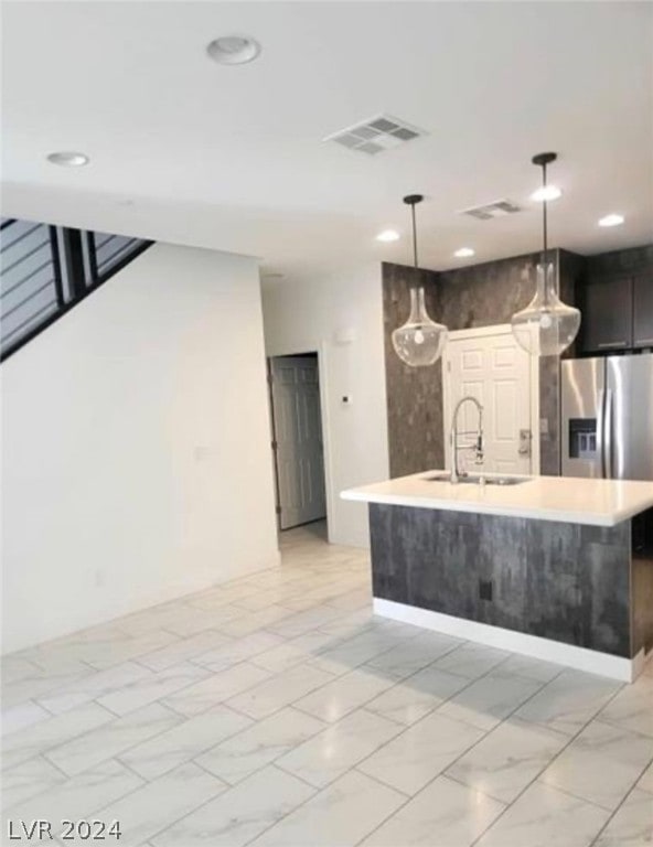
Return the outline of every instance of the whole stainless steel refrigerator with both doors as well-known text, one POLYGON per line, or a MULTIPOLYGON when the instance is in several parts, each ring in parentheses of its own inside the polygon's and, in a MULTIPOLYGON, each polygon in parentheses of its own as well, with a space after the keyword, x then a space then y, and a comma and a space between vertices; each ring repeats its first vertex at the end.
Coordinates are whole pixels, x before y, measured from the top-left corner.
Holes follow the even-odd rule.
POLYGON ((653 353, 561 364, 563 476, 653 480, 653 353))

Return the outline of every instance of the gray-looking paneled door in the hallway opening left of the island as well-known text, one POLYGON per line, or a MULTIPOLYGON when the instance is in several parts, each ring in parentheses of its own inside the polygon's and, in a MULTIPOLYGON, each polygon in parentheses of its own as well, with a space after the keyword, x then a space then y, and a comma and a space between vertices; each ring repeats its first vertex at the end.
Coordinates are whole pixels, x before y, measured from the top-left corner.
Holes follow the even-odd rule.
POLYGON ((271 360, 279 527, 326 516, 320 379, 314 356, 271 360))

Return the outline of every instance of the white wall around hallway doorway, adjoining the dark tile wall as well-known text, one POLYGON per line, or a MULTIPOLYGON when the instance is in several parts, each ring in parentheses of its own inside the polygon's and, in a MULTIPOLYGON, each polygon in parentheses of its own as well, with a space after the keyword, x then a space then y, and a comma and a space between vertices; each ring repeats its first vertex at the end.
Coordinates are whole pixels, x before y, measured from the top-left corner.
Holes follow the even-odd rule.
POLYGON ((268 356, 319 353, 329 539, 367 546, 366 505, 339 494, 388 476, 381 265, 268 282, 263 302, 268 356))

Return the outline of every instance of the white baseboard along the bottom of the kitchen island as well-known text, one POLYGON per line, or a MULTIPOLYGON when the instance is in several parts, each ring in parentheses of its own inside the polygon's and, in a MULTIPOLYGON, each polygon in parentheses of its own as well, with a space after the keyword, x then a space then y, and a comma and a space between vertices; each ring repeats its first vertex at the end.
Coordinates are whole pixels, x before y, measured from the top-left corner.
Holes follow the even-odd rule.
POLYGON ((467 641, 475 641, 490 647, 510 650, 512 653, 521 653, 544 662, 566 665, 589 674, 607 676, 622 683, 632 683, 641 673, 645 662, 643 650, 632 660, 622 658, 587 647, 549 641, 538 635, 527 635, 501 626, 491 626, 488 623, 478 623, 441 612, 432 612, 429 609, 418 609, 414 605, 396 603, 393 600, 382 600, 377 597, 374 598, 374 614, 422 626, 425 630, 443 632, 447 635, 454 635, 467 641))

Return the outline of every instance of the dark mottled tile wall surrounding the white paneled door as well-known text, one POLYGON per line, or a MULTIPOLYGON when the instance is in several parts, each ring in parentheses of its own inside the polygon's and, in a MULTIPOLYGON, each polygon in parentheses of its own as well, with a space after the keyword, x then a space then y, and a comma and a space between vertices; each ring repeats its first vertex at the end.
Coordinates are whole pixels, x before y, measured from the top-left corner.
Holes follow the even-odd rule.
MULTIPOLYGON (((563 299, 574 302, 574 280, 582 257, 553 250, 560 267, 563 299), (578 260, 578 261, 577 261, 578 260)), ((448 271, 415 271, 403 265, 383 264, 386 389, 390 476, 442 468, 442 373, 431 367, 411 368, 395 354, 390 334, 408 315, 410 279, 417 272, 427 292, 429 313, 450 330, 509 323, 535 293, 535 267, 539 253, 490 261, 448 271)), ((559 360, 540 362, 540 417, 548 432, 540 436, 540 471, 557 475, 559 449, 559 360)))

